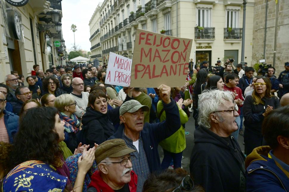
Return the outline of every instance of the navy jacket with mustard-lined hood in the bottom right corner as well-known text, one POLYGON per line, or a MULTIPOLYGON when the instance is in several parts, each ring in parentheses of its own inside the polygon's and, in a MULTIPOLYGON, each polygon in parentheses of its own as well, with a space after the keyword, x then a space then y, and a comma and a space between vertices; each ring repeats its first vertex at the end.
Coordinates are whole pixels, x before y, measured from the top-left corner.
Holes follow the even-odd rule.
POLYGON ((289 172, 268 157, 270 150, 260 146, 247 156, 247 191, 289 191, 289 172))

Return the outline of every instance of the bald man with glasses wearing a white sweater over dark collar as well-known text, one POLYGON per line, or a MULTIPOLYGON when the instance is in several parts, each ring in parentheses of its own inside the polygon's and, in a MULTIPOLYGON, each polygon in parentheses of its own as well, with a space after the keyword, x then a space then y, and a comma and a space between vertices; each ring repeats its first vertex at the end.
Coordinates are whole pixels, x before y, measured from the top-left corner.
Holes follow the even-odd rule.
POLYGON ((85 112, 88 104, 88 92, 84 91, 84 83, 83 80, 79 77, 75 77, 72 79, 72 88, 73 91, 70 95, 73 96, 76 101, 76 112, 74 113, 78 118, 80 118, 85 112))

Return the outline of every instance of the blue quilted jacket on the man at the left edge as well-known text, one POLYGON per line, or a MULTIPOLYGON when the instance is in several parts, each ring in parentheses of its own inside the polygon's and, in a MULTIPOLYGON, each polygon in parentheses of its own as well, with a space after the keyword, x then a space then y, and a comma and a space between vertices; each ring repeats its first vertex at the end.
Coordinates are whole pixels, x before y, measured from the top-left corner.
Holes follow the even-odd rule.
POLYGON ((19 127, 19 116, 4 110, 4 123, 9 135, 9 142, 13 143, 14 135, 19 127))

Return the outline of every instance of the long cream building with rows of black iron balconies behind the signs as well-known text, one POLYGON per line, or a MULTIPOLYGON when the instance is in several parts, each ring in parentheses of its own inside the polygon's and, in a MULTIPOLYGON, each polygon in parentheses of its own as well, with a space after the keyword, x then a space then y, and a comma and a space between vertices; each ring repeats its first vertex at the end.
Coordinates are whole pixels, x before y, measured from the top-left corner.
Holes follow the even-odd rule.
MULTIPOLYGON (((254 0, 246 9, 245 62, 252 61, 254 0)), ((99 20, 100 40, 90 39, 91 51, 107 63, 109 52, 132 58, 136 29, 193 39, 190 58, 241 61, 243 0, 105 0, 91 21, 99 20)), ((91 24, 90 24, 91 27, 91 24)), ((94 30, 91 30, 93 35, 94 30)))

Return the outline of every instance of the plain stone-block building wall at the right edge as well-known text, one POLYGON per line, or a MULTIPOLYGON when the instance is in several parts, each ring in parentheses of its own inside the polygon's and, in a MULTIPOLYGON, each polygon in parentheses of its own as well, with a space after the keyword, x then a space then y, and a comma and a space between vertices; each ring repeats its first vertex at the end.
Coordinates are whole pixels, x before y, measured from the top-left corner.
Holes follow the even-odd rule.
POLYGON ((289 1, 255 1, 252 63, 265 59, 279 74, 289 61, 289 1))

